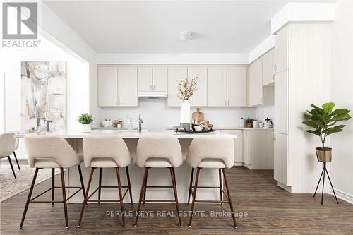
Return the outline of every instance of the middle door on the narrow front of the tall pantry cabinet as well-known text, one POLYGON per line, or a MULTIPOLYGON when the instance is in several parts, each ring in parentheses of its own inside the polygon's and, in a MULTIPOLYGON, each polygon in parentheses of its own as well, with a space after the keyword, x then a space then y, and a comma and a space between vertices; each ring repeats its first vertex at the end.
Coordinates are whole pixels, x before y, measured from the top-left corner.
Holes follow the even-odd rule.
POLYGON ((275 133, 288 134, 288 70, 275 76, 275 133))

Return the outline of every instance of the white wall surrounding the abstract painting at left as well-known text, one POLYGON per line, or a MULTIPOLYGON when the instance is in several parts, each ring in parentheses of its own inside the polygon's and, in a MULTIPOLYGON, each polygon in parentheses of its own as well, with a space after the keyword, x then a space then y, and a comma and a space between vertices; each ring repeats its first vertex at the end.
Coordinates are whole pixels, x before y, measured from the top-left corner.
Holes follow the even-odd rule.
MULTIPOLYGON (((37 48, 1 48, 0 71, 6 74, 5 83, 5 130, 20 131, 20 66, 21 61, 66 61, 67 106, 66 126, 68 130, 80 131, 76 121, 82 112, 87 112, 88 99, 88 64, 56 47, 40 37, 37 48)), ((20 143, 18 157, 24 157, 23 143, 20 143)))

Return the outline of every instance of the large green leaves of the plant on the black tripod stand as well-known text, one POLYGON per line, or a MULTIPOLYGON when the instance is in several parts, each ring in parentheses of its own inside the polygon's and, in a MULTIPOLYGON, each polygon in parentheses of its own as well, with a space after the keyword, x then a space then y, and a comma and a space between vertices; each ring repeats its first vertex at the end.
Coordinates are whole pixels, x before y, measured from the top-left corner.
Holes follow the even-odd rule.
POLYGON ((301 122, 306 126, 313 128, 313 130, 306 130, 309 133, 318 135, 321 138, 321 143, 325 147, 325 140, 328 135, 336 132, 341 132, 345 125, 336 125, 337 121, 347 121, 351 118, 349 115, 350 110, 348 109, 335 109, 333 102, 325 103, 322 108, 317 107, 314 104, 310 105, 313 107, 310 111, 304 114, 305 121, 301 122))

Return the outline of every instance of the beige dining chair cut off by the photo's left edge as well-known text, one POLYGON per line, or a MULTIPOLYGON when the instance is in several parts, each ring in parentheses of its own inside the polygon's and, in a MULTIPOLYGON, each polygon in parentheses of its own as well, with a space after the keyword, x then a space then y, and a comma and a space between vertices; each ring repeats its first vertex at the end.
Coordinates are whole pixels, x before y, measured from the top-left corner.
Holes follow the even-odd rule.
MULTIPOLYGON (((13 165, 10 158, 10 155, 16 149, 16 140, 15 138, 13 138, 13 135, 14 133, 3 133, 0 135, 0 158, 7 157, 8 162, 10 163, 13 177, 15 177, 16 179, 15 170, 13 169, 13 165)), ((16 155, 15 155, 15 159, 17 162, 16 155)), ((17 162, 17 165, 18 165, 18 162, 17 162)), ((20 169, 19 165, 18 165, 18 169, 20 169)))

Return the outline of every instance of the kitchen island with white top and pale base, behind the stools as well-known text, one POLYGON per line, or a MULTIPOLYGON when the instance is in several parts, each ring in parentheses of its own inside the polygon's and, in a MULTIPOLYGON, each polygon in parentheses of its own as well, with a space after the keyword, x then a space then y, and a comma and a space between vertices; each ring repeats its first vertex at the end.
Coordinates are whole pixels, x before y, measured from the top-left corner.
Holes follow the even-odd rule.
MULTIPOLYGON (((16 138, 23 138, 26 134, 18 134, 16 138)), ((28 134, 30 135, 30 134, 28 134)), ((189 150, 189 145, 194 138, 199 138, 201 136, 229 136, 230 138, 236 139, 236 135, 229 135, 227 133, 220 133, 215 131, 214 133, 175 133, 169 130, 143 130, 141 132, 137 131, 107 131, 107 130, 92 130, 90 133, 80 133, 80 132, 63 132, 63 133, 46 133, 45 135, 56 135, 61 138, 65 138, 68 143, 76 150, 78 155, 83 155, 82 140, 85 136, 92 135, 117 135, 124 139, 128 150, 130 151, 131 158, 133 159, 133 164, 129 166, 130 178, 131 178, 131 189, 133 193, 133 203, 138 203, 138 197, 140 195, 140 187, 143 178, 143 168, 138 167, 135 164, 136 157, 136 147, 138 139, 143 136, 159 135, 176 136, 179 139, 181 145, 181 152, 183 153, 183 159, 186 159, 186 154, 189 150)), ((207 147, 207 146, 205 146, 207 147)), ((90 169, 86 168, 84 163, 81 164, 83 171, 83 181, 87 185, 88 178, 90 175, 90 169)), ((175 169, 177 176, 177 190, 179 203, 186 203, 188 192, 189 192, 189 181, 191 175, 191 168, 182 164, 180 167, 175 169)), ((125 171, 121 171, 121 183, 126 186, 126 174, 125 171)), ((79 186, 80 179, 78 177, 78 171, 76 168, 67 169, 65 171, 66 186, 79 186)), ((199 179, 200 186, 218 186, 218 171, 217 169, 204 169, 201 173, 199 179)), ((169 169, 151 169, 148 172, 148 185, 153 186, 171 186, 172 182, 169 177, 169 169)), ((95 173, 92 179, 92 184, 90 187, 90 192, 94 191, 98 186, 98 174, 95 173)), ((117 186, 116 172, 114 169, 102 169, 102 186, 117 186)), ((71 195, 75 189, 68 189, 68 194, 71 195)), ((198 191, 198 196, 205 200, 219 200, 220 194, 219 190, 216 189, 201 189, 198 191)), ((106 199, 116 199, 119 197, 119 193, 116 188, 102 188, 102 200, 106 199)), ((146 193, 146 198, 148 199, 160 199, 160 198, 174 198, 172 189, 160 189, 160 188, 148 188, 146 193)), ((92 195, 91 199, 97 199, 97 193, 92 195)), ((82 203, 83 195, 77 193, 69 203, 82 203)), ((130 198, 125 197, 124 203, 129 203, 130 198)))

